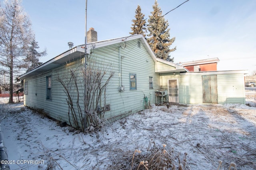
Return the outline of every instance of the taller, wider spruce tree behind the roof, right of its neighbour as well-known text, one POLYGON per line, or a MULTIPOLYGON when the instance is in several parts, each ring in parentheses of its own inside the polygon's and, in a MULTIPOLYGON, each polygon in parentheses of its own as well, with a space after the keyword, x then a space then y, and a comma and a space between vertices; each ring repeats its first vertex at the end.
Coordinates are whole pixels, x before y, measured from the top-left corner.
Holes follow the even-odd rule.
POLYGON ((153 12, 148 19, 148 44, 156 57, 164 59, 170 62, 174 61, 174 58, 170 58, 170 52, 175 51, 176 47, 170 49, 170 45, 175 41, 175 37, 170 39, 170 28, 168 28, 168 20, 162 17, 161 8, 158 6, 157 0, 153 5, 153 12))

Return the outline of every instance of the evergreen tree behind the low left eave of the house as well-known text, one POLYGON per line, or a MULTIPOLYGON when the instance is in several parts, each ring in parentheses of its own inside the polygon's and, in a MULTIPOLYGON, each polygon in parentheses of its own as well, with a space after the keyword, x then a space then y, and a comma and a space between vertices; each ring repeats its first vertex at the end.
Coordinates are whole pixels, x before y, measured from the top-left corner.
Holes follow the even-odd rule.
POLYGON ((38 52, 37 51, 38 48, 39 48, 38 42, 36 40, 33 40, 28 49, 28 54, 26 55, 26 59, 24 59, 24 61, 28 64, 27 72, 41 65, 42 62, 39 62, 39 58, 47 55, 46 49, 42 52, 38 52))

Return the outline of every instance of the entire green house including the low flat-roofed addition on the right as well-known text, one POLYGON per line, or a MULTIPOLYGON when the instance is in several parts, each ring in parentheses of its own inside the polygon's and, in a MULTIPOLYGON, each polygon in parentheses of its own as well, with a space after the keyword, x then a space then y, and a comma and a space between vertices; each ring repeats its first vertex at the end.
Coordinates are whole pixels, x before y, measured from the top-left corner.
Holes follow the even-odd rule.
MULTIPOLYGON (((44 109, 50 117, 68 123, 67 96, 58 80, 72 68, 84 81, 79 71, 84 68, 84 52, 84 45, 76 46, 20 76, 24 80, 24 105, 44 109)), ((104 117, 109 119, 119 119, 143 110, 146 103, 160 101, 155 95, 157 89, 167 90, 164 96, 168 102, 245 104, 244 71, 189 72, 156 58, 142 35, 90 42, 86 53, 87 66, 98 64, 115 72, 104 94, 106 102, 99 102, 99 108, 107 108, 104 117)), ((78 88, 81 102, 83 84, 78 88)))

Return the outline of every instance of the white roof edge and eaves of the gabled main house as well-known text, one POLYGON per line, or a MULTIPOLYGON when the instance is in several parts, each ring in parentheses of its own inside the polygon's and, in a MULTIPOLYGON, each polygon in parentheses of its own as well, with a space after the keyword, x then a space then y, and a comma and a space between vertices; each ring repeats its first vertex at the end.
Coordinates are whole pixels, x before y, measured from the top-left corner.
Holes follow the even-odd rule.
MULTIPOLYGON (((148 45, 146 39, 141 34, 140 35, 130 35, 128 37, 121 37, 121 38, 116 38, 116 39, 108 39, 108 40, 104 40, 104 41, 96 41, 96 42, 88 43, 86 45, 86 48, 87 48, 87 51, 90 51, 90 49, 92 47, 94 49, 97 49, 97 48, 100 48, 100 47, 105 47, 105 46, 116 44, 116 43, 122 43, 122 42, 130 41, 130 40, 133 40, 133 39, 140 39, 141 40, 142 44, 147 49, 148 53, 150 54, 150 57, 154 60, 154 62, 161 62, 161 63, 168 64, 170 66, 176 67, 176 72, 177 71, 185 71, 185 72, 188 71, 183 66, 179 66, 177 64, 174 64, 174 63, 171 63, 171 62, 168 62, 168 61, 157 58, 154 55, 150 46, 148 45)), ((45 72, 47 70, 57 68, 57 67, 65 64, 66 61, 74 61, 76 59, 83 58, 83 57, 84 57, 84 45, 76 46, 76 47, 74 47, 72 49, 69 49, 69 50, 65 51, 64 53, 54 57, 53 59, 50 59, 46 63, 43 63, 40 66, 30 70, 29 72, 23 74, 22 76, 20 76, 20 79, 26 79, 30 76, 34 76, 34 75, 40 74, 42 72, 45 72)))

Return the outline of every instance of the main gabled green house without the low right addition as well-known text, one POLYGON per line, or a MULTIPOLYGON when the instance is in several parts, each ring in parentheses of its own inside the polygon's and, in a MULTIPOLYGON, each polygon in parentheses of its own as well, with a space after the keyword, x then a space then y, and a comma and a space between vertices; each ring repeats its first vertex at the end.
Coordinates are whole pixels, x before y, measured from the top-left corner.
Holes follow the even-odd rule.
MULTIPOLYGON (((106 89, 106 104, 100 102, 100 107, 108 106, 106 118, 118 119, 143 110, 145 98, 154 104, 162 66, 166 71, 186 72, 182 66, 156 58, 142 35, 88 43, 87 49, 87 66, 99 64, 115 72, 106 89)), ((64 78, 70 68, 84 68, 84 51, 84 45, 74 47, 20 76, 24 105, 44 109, 50 117, 68 123, 67 96, 58 78, 64 78)), ((83 89, 82 84, 79 88, 83 89)), ((83 90, 80 92, 83 98, 83 90)))

